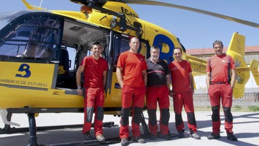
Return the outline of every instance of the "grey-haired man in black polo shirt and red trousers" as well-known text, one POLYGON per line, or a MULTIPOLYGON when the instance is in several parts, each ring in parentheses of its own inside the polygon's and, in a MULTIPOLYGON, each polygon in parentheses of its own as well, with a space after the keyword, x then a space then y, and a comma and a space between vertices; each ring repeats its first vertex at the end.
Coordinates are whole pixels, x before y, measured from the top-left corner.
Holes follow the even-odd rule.
POLYGON ((171 140, 169 136, 168 122, 169 113, 169 92, 170 92, 170 70, 164 60, 159 59, 160 49, 157 46, 150 47, 151 57, 147 62, 147 113, 148 126, 150 130, 150 139, 157 138, 157 101, 160 108, 160 137, 165 140, 171 140))

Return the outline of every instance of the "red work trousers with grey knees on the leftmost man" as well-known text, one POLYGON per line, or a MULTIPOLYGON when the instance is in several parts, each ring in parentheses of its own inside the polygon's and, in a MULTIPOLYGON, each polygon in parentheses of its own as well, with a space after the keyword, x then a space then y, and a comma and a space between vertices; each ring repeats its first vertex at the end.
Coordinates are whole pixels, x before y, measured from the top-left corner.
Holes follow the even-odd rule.
POLYGON ((95 136, 102 134, 103 120, 103 105, 104 105, 104 88, 85 88, 84 91, 84 126, 82 133, 89 132, 94 114, 94 133, 95 136))

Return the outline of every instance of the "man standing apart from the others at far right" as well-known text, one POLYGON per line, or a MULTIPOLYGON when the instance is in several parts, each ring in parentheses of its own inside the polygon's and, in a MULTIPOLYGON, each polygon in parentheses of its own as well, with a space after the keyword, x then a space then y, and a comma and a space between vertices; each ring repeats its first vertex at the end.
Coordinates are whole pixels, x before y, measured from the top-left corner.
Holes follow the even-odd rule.
POLYGON ((235 86, 235 63, 231 56, 223 54, 223 43, 216 40, 213 43, 215 55, 207 60, 206 83, 212 109, 212 134, 207 138, 220 138, 220 98, 225 115, 225 130, 227 138, 237 141, 233 134, 233 116, 231 114, 232 94, 235 86), (231 74, 230 74, 231 72, 231 74))

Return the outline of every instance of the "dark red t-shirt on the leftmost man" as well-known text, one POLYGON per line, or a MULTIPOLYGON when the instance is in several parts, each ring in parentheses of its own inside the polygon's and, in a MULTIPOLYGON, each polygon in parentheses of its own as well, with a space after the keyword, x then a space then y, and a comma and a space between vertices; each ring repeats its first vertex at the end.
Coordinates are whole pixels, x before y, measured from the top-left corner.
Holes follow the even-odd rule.
POLYGON ((108 69, 105 59, 87 56, 80 65, 84 65, 84 87, 103 87, 103 72, 108 69))

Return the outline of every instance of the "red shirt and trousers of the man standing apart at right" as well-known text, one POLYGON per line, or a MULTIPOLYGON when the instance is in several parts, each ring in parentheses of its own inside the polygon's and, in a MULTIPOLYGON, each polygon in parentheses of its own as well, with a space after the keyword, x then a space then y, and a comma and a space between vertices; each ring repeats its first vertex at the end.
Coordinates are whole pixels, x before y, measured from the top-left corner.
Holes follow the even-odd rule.
POLYGON ((206 72, 210 72, 210 87, 208 89, 212 109, 212 131, 220 133, 220 98, 225 115, 225 130, 233 133, 233 116, 231 114, 232 93, 230 87, 230 69, 235 69, 235 63, 229 55, 214 55, 207 60, 206 72))

